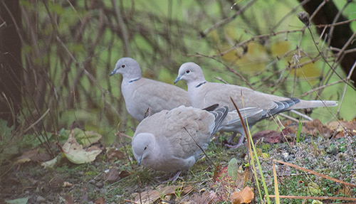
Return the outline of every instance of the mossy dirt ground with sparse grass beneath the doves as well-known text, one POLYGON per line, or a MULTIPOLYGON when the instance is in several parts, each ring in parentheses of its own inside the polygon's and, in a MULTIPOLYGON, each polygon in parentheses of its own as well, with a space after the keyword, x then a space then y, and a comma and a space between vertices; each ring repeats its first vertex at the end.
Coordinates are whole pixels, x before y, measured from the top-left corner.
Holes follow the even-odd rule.
MULTIPOLYGON (((340 139, 305 136, 304 140, 298 143, 289 141, 271 144, 257 141, 256 144, 261 169, 271 194, 274 193, 273 159, 293 163, 356 185, 356 136, 340 139)), ((0 203, 16 198, 28 198, 27 203, 130 203, 129 200, 135 200, 135 193, 157 190, 162 186, 182 186, 187 192, 182 190, 177 194, 178 191, 175 190, 169 197, 159 195, 156 203, 168 199, 167 203, 204 203, 206 202, 204 196, 208 196, 206 192, 208 194, 214 192, 217 195, 221 189, 226 190, 216 187, 215 168, 206 158, 197 162, 189 172, 183 173, 176 182, 162 184, 172 175, 142 166, 137 167, 137 163, 132 159, 130 144, 125 146, 118 144, 117 147, 119 150, 105 149, 95 161, 81 165, 70 163, 66 159, 62 159, 55 168, 43 168, 40 163, 33 161, 16 165, 7 163, 1 167, 7 171, 1 175, 0 203)), ((245 147, 228 149, 221 145, 219 140, 215 140, 209 146, 206 156, 213 163, 222 166, 227 166, 231 158, 236 158, 239 164, 246 164, 248 159, 245 147)), ((276 163, 275 166, 280 195, 355 198, 355 188, 305 171, 298 171, 281 163, 276 163), (300 190, 302 188, 300 186, 308 188, 303 191, 300 190)), ((245 165, 244 169, 246 168, 248 167, 245 165)), ((256 182, 253 182, 252 176, 250 179, 251 183, 245 184, 253 188, 255 197, 258 197, 256 182)), ((221 181, 218 181, 218 184, 219 182, 221 181)), ((211 199, 211 203, 222 203, 221 199, 226 198, 216 196, 215 199, 211 199)), ((252 203, 257 203, 258 200, 259 198, 254 198, 252 203)), ((285 202, 301 203, 300 200, 285 202)))

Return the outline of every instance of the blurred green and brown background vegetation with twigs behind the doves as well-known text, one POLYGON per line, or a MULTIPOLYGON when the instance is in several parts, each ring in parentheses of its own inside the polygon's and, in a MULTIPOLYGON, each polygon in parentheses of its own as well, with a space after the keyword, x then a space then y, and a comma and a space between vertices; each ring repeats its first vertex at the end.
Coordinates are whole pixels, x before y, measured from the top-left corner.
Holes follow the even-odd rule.
MULTIPOLYGON (((1 15, 11 10, 4 2, 1 15)), ((340 66, 340 56, 345 57, 347 50, 354 54, 355 47, 333 46, 328 35, 340 26, 312 24, 308 31, 297 15, 309 1, 13 2, 19 3, 19 14, 10 15, 19 17, 15 26, 21 47, 16 61, 19 82, 4 85, 4 75, 0 78, 1 86, 21 93, 21 104, 1 91, 1 106, 11 109, 1 109, 1 116, 14 125, 18 136, 34 134, 46 141, 48 134, 68 129, 73 122, 103 134, 106 145, 115 141, 117 129, 132 136, 130 127, 138 123, 126 111, 121 76, 109 77, 116 61, 125 56, 140 63, 144 77, 169 84, 182 63, 193 61, 211 82, 305 100, 339 101, 338 107, 313 110, 311 117, 322 122, 355 118, 355 86, 340 66)), ((343 17, 331 18, 331 23, 350 26, 353 36, 346 41, 352 41, 355 2, 330 2, 337 6, 333 12, 343 17)), ((321 12, 325 6, 320 7, 321 12)), ((3 21, 0 31, 7 28, 3 21)), ((187 88, 184 82, 177 85, 187 88)))

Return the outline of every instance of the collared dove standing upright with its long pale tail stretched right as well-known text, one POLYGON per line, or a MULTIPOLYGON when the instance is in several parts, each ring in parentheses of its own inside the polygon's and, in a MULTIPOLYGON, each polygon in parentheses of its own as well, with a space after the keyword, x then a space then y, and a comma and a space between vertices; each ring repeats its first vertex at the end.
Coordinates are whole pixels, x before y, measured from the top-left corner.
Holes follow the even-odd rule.
POLYGON ((236 110, 230 97, 234 100, 239 109, 244 107, 244 111, 241 111, 241 114, 244 118, 248 119, 248 125, 250 127, 261 119, 291 109, 337 105, 335 101, 308 101, 298 98, 278 97, 276 95, 256 92, 247 87, 206 82, 203 71, 196 63, 182 64, 174 83, 177 83, 179 80, 185 80, 187 82, 188 95, 192 102, 192 107, 202 108, 211 104, 220 104, 229 107, 230 110, 234 110, 228 114, 228 117, 235 118, 235 120, 231 120, 229 125, 221 128, 223 131, 233 131, 233 136, 236 135, 236 132, 241 134, 239 143, 236 144, 236 146, 231 146, 233 148, 237 148, 243 144, 245 134, 240 119, 236 118, 236 110), (241 100, 241 95, 244 100, 244 105, 241 100))

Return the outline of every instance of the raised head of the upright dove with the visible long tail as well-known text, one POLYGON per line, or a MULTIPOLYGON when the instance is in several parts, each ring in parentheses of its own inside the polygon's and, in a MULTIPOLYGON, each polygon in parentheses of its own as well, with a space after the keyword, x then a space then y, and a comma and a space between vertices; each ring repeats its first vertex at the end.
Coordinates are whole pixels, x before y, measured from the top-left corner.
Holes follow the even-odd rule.
POLYGON ((179 80, 184 80, 189 85, 190 82, 201 83, 205 82, 204 73, 196 63, 184 63, 180 66, 177 79, 174 84, 179 80))

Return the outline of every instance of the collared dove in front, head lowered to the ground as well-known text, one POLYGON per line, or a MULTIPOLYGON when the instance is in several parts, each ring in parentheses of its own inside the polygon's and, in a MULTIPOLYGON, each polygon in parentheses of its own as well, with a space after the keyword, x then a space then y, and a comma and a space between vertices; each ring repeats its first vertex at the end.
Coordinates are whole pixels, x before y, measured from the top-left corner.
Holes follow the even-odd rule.
POLYGON ((205 150, 219 131, 227 112, 228 107, 208 112, 180 106, 143 119, 132 137, 135 159, 159 171, 178 171, 177 178, 200 158, 201 149, 205 150))

